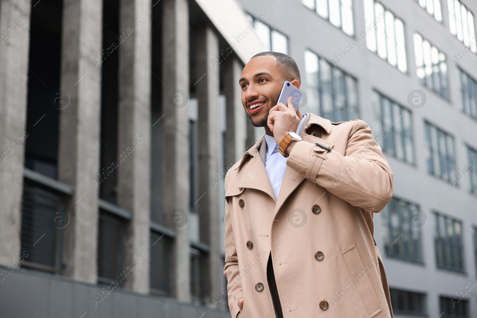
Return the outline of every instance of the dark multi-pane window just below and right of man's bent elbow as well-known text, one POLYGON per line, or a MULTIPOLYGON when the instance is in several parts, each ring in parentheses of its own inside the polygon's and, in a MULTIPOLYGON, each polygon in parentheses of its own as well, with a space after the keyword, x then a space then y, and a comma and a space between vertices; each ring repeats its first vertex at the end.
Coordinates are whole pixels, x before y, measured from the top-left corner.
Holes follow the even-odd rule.
POLYGON ((386 255, 422 263, 419 206, 393 196, 383 212, 386 255))

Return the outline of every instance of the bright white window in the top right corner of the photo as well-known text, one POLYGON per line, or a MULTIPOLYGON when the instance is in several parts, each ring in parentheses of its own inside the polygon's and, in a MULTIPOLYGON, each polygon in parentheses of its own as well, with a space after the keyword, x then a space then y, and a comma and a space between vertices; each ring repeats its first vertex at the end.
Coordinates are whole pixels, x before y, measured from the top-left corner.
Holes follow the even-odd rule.
POLYGON ((459 0, 447 0, 449 28, 452 35, 477 53, 474 15, 459 0))

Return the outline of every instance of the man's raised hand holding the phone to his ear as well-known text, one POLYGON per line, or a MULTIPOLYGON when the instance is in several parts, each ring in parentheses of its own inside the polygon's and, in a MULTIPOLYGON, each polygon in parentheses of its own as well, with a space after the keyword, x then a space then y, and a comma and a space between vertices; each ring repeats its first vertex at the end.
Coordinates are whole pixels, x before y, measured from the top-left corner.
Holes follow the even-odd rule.
POLYGON ((293 107, 293 97, 289 97, 287 105, 282 103, 270 108, 269 116, 267 119, 267 126, 273 133, 275 142, 280 145, 281 139, 289 131, 296 132, 298 125, 300 124, 300 118, 298 118, 295 108, 293 107))

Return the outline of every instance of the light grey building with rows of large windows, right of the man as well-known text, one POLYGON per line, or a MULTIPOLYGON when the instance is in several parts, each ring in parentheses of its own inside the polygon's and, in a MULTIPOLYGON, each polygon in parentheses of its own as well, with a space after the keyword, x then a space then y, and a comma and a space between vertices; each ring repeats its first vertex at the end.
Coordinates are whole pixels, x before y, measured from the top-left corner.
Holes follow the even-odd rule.
POLYGON ((477 317, 477 2, 240 2, 267 13, 267 49, 288 40, 302 113, 363 119, 384 150, 394 198, 374 237, 396 317, 477 317))

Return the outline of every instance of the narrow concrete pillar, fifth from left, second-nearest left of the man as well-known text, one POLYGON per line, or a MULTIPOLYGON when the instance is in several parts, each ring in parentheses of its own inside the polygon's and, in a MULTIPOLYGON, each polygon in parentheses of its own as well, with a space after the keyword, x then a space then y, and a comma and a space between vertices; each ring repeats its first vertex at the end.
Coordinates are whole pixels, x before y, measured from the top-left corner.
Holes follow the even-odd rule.
POLYGON ((211 61, 217 58, 218 37, 209 26, 197 31, 197 100, 198 100, 198 135, 199 147, 199 205, 200 239, 207 244, 211 251, 207 256, 207 272, 203 284, 206 286, 206 302, 213 305, 214 297, 221 292, 223 280, 223 262, 220 255, 218 194, 219 187, 214 186, 213 180, 219 172, 218 144, 222 143, 218 131, 218 95, 219 68, 211 61), (203 76, 203 77, 202 77, 203 76), (202 77, 202 78, 201 78, 202 77), (222 276, 222 277, 221 277, 222 276))

